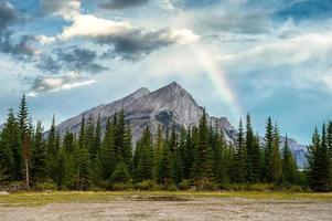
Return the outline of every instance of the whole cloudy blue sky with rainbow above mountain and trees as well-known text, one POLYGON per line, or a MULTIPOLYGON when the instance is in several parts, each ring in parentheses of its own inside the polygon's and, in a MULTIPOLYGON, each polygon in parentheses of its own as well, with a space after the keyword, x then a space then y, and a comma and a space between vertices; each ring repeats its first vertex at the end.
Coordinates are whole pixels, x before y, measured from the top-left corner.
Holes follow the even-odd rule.
POLYGON ((309 144, 332 118, 332 1, 0 0, 0 122, 23 93, 47 127, 172 81, 309 144))

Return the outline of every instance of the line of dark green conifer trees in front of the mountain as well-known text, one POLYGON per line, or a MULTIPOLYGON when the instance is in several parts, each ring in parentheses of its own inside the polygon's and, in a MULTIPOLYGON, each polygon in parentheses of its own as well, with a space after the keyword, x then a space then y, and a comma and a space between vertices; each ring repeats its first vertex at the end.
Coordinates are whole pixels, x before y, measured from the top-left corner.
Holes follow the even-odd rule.
POLYGON ((53 117, 45 136, 41 122, 33 126, 23 95, 18 113, 9 109, 0 134, 0 183, 69 190, 213 190, 268 183, 331 190, 332 123, 323 126, 322 135, 315 130, 308 150, 308 167, 300 171, 287 136, 281 144, 270 117, 264 138, 247 115, 245 124, 239 120, 235 140, 227 141, 205 110, 197 126, 188 129, 160 125, 152 135, 146 127, 137 144, 124 110, 106 125, 100 117, 82 116, 79 133, 64 136, 53 117))

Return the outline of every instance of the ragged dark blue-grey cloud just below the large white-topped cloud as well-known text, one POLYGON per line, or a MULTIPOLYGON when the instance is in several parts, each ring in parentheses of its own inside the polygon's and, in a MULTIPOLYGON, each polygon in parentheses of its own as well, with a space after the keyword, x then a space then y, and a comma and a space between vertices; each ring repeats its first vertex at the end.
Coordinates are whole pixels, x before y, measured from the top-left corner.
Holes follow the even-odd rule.
POLYGON ((96 63, 98 55, 96 52, 78 46, 67 49, 55 49, 52 55, 41 56, 36 64, 38 69, 51 73, 57 73, 60 70, 89 72, 93 74, 108 70, 96 63))

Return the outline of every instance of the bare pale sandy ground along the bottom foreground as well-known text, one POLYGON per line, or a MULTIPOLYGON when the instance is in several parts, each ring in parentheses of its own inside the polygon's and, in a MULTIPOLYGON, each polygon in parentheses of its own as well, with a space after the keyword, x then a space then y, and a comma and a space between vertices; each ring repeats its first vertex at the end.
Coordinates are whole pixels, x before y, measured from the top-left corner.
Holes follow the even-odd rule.
POLYGON ((1 221, 129 220, 332 220, 332 202, 191 198, 183 201, 116 199, 100 203, 54 203, 35 208, 0 207, 1 221))

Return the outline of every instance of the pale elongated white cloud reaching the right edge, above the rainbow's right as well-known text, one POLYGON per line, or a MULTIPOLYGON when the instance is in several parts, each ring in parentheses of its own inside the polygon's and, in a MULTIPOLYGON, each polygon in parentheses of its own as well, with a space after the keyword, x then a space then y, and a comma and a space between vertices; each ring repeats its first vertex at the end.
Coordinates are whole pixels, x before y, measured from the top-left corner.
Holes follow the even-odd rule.
POLYGON ((310 59, 321 61, 332 53, 332 33, 304 33, 287 40, 269 40, 239 53, 218 56, 224 67, 265 70, 280 65, 298 65, 310 59))

